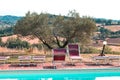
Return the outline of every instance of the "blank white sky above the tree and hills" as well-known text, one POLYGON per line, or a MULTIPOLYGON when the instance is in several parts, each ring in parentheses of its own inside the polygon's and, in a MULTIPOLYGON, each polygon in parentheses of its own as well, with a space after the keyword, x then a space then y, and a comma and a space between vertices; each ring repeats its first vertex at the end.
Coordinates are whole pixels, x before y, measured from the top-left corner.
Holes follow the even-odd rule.
POLYGON ((24 16, 28 11, 120 19, 120 0, 0 0, 0 15, 24 16))

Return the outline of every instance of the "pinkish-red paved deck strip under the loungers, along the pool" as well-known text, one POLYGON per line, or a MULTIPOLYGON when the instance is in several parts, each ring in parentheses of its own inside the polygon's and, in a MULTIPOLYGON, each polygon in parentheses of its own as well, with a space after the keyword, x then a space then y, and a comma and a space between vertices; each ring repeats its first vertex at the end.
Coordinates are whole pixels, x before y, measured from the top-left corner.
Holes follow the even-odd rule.
POLYGON ((89 61, 83 61, 82 63, 65 63, 64 65, 56 63, 56 68, 51 62, 46 62, 43 65, 37 64, 37 66, 26 66, 26 67, 16 67, 11 66, 11 64, 0 64, 0 70, 44 70, 44 69, 101 69, 101 68, 120 68, 118 62, 112 62, 110 64, 95 64, 89 61))

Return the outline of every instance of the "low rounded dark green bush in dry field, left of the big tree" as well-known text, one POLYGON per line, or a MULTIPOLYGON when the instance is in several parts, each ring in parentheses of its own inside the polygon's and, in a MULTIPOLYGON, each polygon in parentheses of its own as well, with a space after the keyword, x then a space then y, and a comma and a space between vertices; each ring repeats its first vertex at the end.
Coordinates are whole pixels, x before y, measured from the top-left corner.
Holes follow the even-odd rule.
POLYGON ((9 38, 6 42, 6 47, 7 48, 17 48, 17 49, 22 49, 22 48, 29 48, 30 45, 26 41, 21 41, 19 38, 9 38))

